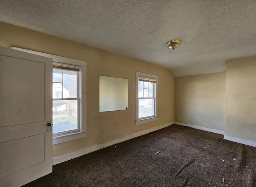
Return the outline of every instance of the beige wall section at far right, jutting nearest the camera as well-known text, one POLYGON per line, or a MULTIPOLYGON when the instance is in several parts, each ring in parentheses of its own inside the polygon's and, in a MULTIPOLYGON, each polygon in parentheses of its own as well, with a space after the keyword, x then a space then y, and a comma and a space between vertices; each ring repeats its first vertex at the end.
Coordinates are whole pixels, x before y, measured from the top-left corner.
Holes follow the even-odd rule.
POLYGON ((256 56, 227 61, 226 135, 256 141, 256 56))

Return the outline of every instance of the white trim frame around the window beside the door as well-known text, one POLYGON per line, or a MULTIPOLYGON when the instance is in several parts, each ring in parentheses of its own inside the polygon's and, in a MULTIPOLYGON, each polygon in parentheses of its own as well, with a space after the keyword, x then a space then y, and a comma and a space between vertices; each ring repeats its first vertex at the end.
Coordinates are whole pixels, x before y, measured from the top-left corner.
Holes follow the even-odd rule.
MULTIPOLYGON (((67 141, 72 141, 75 139, 80 139, 86 137, 86 61, 82 60, 76 60, 72 58, 66 58, 62 56, 56 56, 52 54, 47 54, 47 53, 42 53, 42 52, 37 52, 37 51, 32 51, 32 50, 26 50, 22 48, 17 48, 13 47, 12 49, 14 50, 19 50, 31 54, 36 54, 40 56, 45 56, 48 58, 52 58, 53 64, 54 62, 56 63, 61 63, 61 64, 67 64, 67 65, 74 65, 74 66, 79 66, 80 67, 80 131, 76 132, 70 132, 70 133, 62 133, 60 135, 53 135, 52 137, 52 144, 58 144, 58 143, 63 143, 67 141)), ((51 93, 52 95, 52 93, 51 93)))

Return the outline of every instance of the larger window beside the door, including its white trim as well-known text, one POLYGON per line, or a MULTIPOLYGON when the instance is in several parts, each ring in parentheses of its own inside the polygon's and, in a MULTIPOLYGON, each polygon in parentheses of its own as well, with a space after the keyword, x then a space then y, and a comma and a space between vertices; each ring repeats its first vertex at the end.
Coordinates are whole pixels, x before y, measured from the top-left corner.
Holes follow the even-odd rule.
POLYGON ((86 137, 86 62, 22 48, 12 49, 53 60, 52 144, 86 137))

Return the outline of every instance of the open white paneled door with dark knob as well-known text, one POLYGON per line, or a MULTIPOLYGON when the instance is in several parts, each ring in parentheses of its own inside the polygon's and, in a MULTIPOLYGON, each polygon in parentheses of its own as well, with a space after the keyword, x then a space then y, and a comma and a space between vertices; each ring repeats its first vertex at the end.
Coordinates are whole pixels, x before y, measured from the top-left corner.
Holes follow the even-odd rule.
POLYGON ((52 172, 51 121, 52 59, 0 47, 1 187, 52 172))

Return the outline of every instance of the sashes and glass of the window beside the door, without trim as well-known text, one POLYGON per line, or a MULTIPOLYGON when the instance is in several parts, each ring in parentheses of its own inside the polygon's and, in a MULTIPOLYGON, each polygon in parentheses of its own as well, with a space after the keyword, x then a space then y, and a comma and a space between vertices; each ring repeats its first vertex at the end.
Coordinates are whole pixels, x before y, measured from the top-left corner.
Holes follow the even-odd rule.
POLYGON ((80 131, 80 67, 54 62, 52 70, 52 133, 80 131))

